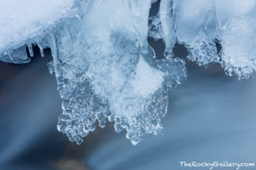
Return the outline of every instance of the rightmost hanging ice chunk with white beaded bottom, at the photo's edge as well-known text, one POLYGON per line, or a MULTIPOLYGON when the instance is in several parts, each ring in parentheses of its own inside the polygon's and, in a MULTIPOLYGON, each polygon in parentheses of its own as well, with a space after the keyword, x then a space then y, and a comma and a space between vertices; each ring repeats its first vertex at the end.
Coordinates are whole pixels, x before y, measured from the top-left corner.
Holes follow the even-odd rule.
POLYGON ((256 2, 226 0, 216 4, 222 65, 228 75, 248 78, 256 68, 256 2))

